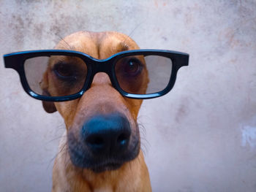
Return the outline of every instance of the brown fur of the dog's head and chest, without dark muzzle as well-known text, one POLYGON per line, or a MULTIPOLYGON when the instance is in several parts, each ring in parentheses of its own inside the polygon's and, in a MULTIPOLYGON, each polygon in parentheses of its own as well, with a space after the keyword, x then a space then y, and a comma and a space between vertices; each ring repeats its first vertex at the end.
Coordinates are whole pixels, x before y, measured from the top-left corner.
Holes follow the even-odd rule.
MULTIPOLYGON (((65 37, 56 45, 56 49, 77 50, 104 59, 120 51, 139 47, 132 39, 117 32, 80 31, 65 37)), ((42 88, 52 95, 54 89, 48 84, 50 77, 47 75, 44 75, 42 88)), ((144 84, 146 87, 146 82, 144 84)), ((94 76, 91 88, 80 99, 55 103, 43 101, 46 111, 59 111, 67 128, 53 166, 53 191, 151 191, 141 150, 135 159, 124 163, 119 169, 97 173, 74 166, 67 149, 67 134, 72 133, 77 137, 83 122, 98 112, 121 112, 132 125, 132 135, 139 137, 136 121, 141 103, 142 100, 121 96, 111 85, 108 74, 102 72, 94 76)))

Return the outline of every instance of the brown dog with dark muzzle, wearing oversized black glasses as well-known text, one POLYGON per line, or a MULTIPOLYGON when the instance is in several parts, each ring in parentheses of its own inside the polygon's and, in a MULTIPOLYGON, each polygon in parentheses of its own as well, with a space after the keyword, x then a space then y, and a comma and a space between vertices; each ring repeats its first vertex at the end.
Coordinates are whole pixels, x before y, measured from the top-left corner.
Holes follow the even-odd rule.
MULTIPOLYGON (((56 49, 77 50, 94 58, 105 59, 124 51, 139 49, 138 45, 124 34, 117 32, 93 33, 80 31, 65 37, 56 49)), ((54 95, 48 72, 45 72, 42 89, 54 95)), ((146 88, 147 80, 142 85, 146 88)), ((128 99, 121 96, 111 85, 108 74, 99 72, 80 99, 66 102, 43 101, 47 112, 59 111, 64 118, 67 131, 59 145, 59 154, 53 166, 53 191, 151 191, 148 169, 143 153, 140 150, 140 134, 137 116, 142 100, 128 99), (86 126, 99 124, 120 126, 121 130, 88 138, 86 126), (81 131, 85 132, 86 145, 80 139, 81 131), (105 137, 118 137, 117 142, 129 144, 118 155, 120 150, 114 143, 112 153, 102 152, 101 157, 91 155, 92 148, 97 147, 105 137)), ((91 133, 89 133, 90 135, 91 133)), ((94 135, 94 133, 93 133, 94 135)))

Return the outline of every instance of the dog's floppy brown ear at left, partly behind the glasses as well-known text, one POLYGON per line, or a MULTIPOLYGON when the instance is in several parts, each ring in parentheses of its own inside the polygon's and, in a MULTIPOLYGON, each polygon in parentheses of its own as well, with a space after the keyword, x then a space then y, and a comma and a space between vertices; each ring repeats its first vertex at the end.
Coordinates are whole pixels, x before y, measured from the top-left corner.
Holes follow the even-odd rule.
MULTIPOLYGON (((42 81, 40 82, 40 87, 42 88, 43 96, 50 96, 48 92, 48 73, 47 71, 43 74, 42 81)), ((42 107, 44 107, 46 112, 52 113, 56 112, 56 107, 53 101, 42 101, 42 107)))

